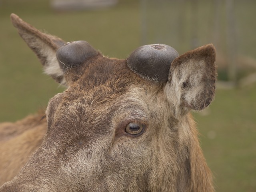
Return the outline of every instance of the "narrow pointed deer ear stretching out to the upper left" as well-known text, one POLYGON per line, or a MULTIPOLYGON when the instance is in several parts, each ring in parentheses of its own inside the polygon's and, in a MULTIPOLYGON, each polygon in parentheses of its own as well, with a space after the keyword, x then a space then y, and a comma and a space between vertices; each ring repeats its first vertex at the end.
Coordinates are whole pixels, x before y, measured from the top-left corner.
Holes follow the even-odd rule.
POLYGON ((58 83, 65 85, 64 72, 57 61, 56 51, 66 42, 56 36, 40 32, 16 14, 11 14, 11 20, 14 27, 18 29, 20 36, 37 55, 44 66, 45 73, 58 83))

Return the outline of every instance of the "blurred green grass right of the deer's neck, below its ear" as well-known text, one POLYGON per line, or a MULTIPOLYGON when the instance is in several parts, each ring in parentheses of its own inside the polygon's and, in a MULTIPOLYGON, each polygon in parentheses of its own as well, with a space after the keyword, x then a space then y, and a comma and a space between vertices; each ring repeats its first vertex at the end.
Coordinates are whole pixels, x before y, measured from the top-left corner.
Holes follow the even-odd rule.
POLYGON ((217 90, 204 113, 194 114, 216 191, 256 190, 256 85, 217 90))

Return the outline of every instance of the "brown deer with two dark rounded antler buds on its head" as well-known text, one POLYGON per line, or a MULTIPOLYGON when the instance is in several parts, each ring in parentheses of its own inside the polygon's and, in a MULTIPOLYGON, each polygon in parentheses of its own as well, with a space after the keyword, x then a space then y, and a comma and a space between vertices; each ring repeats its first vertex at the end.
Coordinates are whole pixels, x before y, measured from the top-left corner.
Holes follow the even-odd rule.
POLYGON ((214 191, 191 114, 214 99, 212 44, 180 56, 150 44, 108 58, 11 20, 66 90, 46 112, 0 124, 0 192, 214 191))

